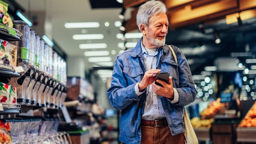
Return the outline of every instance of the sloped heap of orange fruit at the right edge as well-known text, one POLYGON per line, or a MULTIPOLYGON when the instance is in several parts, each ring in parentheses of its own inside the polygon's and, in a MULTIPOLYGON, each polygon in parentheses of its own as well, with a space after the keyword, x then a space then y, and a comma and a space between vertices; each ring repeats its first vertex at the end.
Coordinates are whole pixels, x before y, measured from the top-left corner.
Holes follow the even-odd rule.
POLYGON ((256 127, 256 102, 247 112, 238 127, 256 127))

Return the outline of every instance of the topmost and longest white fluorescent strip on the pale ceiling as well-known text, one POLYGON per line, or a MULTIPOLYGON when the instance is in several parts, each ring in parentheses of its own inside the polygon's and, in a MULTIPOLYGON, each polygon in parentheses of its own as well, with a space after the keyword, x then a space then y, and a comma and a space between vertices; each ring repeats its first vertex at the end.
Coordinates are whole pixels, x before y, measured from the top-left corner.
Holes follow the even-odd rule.
POLYGON ((65 28, 98 28, 99 22, 67 22, 65 28))

